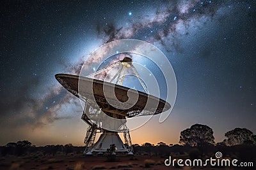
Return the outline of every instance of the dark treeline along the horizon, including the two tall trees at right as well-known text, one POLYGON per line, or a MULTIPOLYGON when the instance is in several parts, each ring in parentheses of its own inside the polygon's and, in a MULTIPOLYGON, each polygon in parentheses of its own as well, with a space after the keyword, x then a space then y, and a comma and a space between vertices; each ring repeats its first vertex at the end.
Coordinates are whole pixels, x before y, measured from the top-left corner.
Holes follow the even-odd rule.
MULTIPOLYGON (((239 160, 256 160, 255 135, 248 129, 236 128, 225 133, 225 139, 221 143, 214 142, 213 131, 207 125, 195 124, 189 129, 180 132, 180 145, 166 145, 159 142, 157 145, 143 143, 134 144, 134 155, 156 155, 161 157, 189 157, 191 159, 214 157, 216 152, 221 152, 223 157, 239 158, 239 160)), ((29 141, 18 141, 0 146, 2 156, 5 155, 82 155, 83 146, 47 145, 32 146, 29 141)))

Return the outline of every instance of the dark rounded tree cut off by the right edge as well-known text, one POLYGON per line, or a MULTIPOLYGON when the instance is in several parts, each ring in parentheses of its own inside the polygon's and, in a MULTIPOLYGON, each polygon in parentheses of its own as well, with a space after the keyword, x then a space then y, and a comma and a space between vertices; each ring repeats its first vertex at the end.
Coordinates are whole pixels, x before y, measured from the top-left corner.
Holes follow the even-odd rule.
POLYGON ((255 135, 253 132, 246 128, 236 128, 232 131, 225 133, 225 139, 223 143, 227 146, 242 145, 243 143, 251 143, 256 145, 255 135))

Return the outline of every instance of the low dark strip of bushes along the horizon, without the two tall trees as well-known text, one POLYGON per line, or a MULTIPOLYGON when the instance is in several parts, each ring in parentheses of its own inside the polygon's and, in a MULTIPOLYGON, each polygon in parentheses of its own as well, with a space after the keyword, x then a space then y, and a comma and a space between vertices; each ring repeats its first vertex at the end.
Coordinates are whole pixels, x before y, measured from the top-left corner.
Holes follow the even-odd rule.
MULTIPOLYGON (((168 157, 172 155, 173 158, 182 159, 207 159, 215 157, 216 152, 221 152, 223 157, 230 159, 239 159, 240 161, 255 161, 256 160, 256 146, 244 143, 242 145, 226 146, 226 145, 204 145, 202 147, 189 145, 165 145, 159 142, 157 145, 144 143, 143 145, 133 145, 134 155, 150 155, 168 157)), ((83 155, 83 146, 67 145, 47 145, 47 146, 31 146, 29 141, 18 141, 17 143, 8 143, 6 146, 0 146, 2 156, 6 155, 36 155, 40 157, 43 155, 83 155)), ((256 162, 255 162, 256 163, 256 162)))

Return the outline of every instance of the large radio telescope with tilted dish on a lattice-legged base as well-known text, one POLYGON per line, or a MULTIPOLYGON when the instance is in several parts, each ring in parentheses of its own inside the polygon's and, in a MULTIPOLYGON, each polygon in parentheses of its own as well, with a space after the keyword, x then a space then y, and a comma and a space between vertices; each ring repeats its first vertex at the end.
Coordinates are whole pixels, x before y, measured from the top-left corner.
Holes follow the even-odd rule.
POLYGON ((103 67, 87 77, 56 74, 55 78, 65 89, 85 103, 81 118, 89 125, 84 139, 86 155, 108 152, 110 145, 115 145, 114 154, 133 154, 126 118, 157 115, 171 108, 163 99, 148 94, 147 86, 129 57, 103 67), (108 73, 113 67, 118 67, 118 71, 109 82, 95 79, 95 76, 108 73), (128 69, 132 69, 145 92, 122 86, 128 69), (95 143, 97 132, 101 134, 95 143), (124 133, 124 143, 118 132, 124 133))

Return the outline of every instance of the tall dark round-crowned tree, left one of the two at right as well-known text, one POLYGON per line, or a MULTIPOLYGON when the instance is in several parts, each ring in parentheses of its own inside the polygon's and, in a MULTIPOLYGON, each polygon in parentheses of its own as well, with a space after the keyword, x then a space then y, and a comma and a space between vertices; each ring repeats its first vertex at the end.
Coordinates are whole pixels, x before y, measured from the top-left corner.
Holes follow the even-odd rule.
POLYGON ((214 136, 211 127, 195 124, 189 129, 180 132, 180 144, 189 146, 214 145, 214 136))

